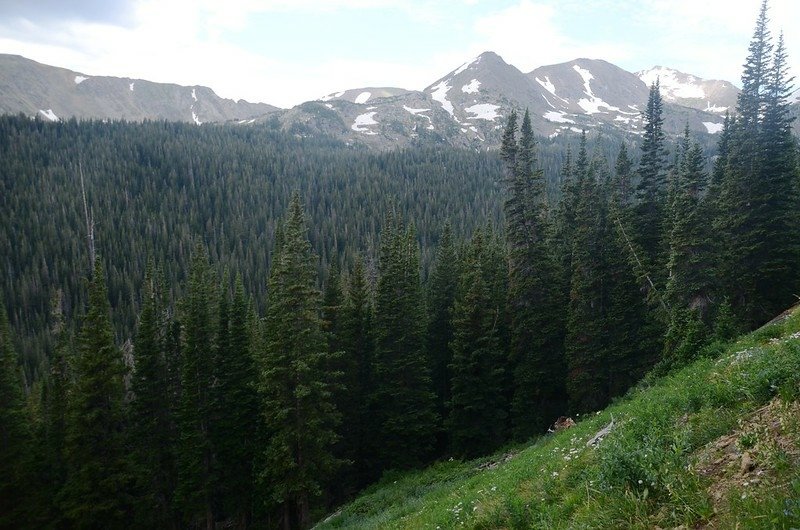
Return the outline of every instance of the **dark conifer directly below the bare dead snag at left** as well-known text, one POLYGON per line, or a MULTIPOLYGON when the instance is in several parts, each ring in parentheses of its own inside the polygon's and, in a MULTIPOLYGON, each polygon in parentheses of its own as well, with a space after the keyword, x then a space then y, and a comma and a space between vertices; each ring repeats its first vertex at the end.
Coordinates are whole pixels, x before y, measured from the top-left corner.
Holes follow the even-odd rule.
POLYGON ((73 370, 66 433, 68 472, 60 504, 73 526, 121 528, 131 517, 131 469, 123 439, 126 369, 114 345, 99 258, 89 283, 89 305, 73 370))

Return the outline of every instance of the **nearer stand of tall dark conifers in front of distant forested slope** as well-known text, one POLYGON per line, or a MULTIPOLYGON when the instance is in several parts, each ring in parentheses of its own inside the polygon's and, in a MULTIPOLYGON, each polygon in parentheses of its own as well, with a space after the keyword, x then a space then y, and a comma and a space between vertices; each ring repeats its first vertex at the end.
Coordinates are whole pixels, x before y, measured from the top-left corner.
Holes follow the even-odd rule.
POLYGON ((668 153, 657 84, 638 163, 584 135, 546 177, 530 117, 512 114, 489 179, 502 228, 433 221, 396 194, 374 247, 348 235, 320 250, 303 188, 276 207, 267 264, 187 233, 179 263, 139 249, 130 303, 103 267, 125 261, 101 245, 86 303, 48 303, 35 378, 0 313, 0 525, 308 527, 387 471, 528 440, 713 355, 800 292, 798 147, 766 3, 742 81, 711 171, 688 132, 668 153), (74 332, 66 307, 86 308, 74 332), (138 309, 119 346, 123 308, 138 309))

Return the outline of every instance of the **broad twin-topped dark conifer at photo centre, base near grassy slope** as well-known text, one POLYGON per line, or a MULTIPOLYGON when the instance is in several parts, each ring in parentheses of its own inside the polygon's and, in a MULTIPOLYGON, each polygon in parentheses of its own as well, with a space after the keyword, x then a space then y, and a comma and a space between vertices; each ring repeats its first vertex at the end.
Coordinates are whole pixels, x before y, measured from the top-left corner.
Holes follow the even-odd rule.
POLYGON ((413 226, 390 212, 381 232, 372 395, 384 468, 419 466, 431 456, 438 424, 425 353, 425 303, 413 226))

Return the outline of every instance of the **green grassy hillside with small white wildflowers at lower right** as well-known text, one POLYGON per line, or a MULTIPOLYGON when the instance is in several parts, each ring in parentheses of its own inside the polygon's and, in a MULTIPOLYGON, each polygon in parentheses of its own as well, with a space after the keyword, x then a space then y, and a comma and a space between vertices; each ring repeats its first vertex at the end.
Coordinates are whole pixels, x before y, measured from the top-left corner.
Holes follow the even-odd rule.
POLYGON ((798 399, 795 309, 531 445, 387 476, 319 528, 800 527, 798 399))

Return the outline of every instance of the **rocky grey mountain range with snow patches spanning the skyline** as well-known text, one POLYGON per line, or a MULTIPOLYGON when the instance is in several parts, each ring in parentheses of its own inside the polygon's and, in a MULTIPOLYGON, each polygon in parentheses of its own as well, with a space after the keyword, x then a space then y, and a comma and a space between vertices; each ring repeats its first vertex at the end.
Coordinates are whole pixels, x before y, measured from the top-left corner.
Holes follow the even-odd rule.
MULTIPOLYGON (((301 136, 327 134, 380 149, 420 143, 491 148, 499 144, 513 109, 529 109, 542 136, 582 129, 641 134, 642 110, 656 81, 664 99, 664 129, 670 134, 679 134, 687 124, 695 133, 718 133, 739 93, 730 82, 663 66, 632 73, 603 60, 575 59, 524 73, 485 52, 421 91, 355 88, 280 109, 224 99, 203 86, 90 76, 0 55, 0 113, 48 120, 269 122, 301 136)), ((795 103, 800 108, 800 100, 795 103)))

